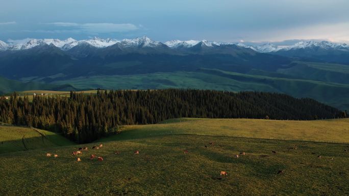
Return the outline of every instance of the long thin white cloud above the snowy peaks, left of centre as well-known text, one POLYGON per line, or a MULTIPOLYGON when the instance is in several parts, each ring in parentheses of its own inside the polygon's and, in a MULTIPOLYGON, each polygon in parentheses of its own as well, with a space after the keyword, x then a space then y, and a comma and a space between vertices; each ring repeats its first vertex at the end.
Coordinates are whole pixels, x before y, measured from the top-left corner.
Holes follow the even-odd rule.
POLYGON ((55 26, 72 27, 89 33, 116 33, 138 30, 138 27, 131 23, 74 23, 74 22, 53 22, 46 23, 55 26))

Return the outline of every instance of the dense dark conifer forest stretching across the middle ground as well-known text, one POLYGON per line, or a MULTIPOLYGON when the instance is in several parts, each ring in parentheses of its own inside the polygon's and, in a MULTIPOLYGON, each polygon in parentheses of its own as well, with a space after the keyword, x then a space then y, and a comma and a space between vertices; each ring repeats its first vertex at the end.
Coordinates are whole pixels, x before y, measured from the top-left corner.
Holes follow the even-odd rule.
POLYGON ((34 96, 32 101, 14 93, 9 100, 0 100, 0 122, 61 132, 79 143, 112 134, 120 125, 181 117, 315 120, 344 115, 313 99, 262 92, 111 90, 70 92, 70 97, 34 96))

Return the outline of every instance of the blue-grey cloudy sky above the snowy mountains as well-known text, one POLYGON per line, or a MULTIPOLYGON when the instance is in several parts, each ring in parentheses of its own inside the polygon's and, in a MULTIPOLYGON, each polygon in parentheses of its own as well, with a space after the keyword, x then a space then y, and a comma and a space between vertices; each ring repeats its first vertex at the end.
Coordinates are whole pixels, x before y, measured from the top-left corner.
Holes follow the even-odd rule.
POLYGON ((11 0, 0 40, 135 38, 349 42, 348 0, 11 0))

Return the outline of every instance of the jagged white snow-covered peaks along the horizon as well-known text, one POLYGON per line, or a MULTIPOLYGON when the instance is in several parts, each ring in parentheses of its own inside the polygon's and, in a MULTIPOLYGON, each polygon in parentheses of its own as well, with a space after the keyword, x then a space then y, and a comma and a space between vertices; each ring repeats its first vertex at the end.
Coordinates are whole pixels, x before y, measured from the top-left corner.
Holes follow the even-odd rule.
POLYGON ((88 40, 74 40, 72 38, 68 38, 66 40, 59 40, 59 39, 33 39, 28 41, 24 44, 8 44, 0 40, 0 51, 5 50, 24 50, 33 48, 38 45, 50 45, 53 44, 56 47, 62 49, 62 50, 69 50, 77 45, 80 44, 88 44, 96 48, 105 48, 114 44, 120 44, 123 47, 157 47, 160 45, 166 45, 169 48, 190 48, 197 44, 201 44, 201 46, 207 46, 207 47, 215 47, 220 45, 237 45, 240 47, 245 48, 251 48, 257 52, 277 52, 280 50, 292 50, 292 49, 301 49, 301 48, 314 48, 314 47, 320 47, 323 49, 338 49, 338 50, 347 50, 349 51, 349 45, 347 44, 341 44, 341 43, 333 43, 329 41, 302 41, 295 43, 293 45, 289 46, 280 46, 280 45, 273 45, 270 43, 266 43, 259 46, 253 46, 253 45, 245 45, 243 43, 222 43, 222 42, 211 42, 207 40, 197 41, 197 40, 188 40, 188 41, 181 41, 181 40, 172 40, 167 41, 164 43, 153 41, 149 39, 146 36, 135 38, 135 39, 123 39, 123 40, 116 40, 116 39, 101 39, 101 38, 93 38, 88 40))

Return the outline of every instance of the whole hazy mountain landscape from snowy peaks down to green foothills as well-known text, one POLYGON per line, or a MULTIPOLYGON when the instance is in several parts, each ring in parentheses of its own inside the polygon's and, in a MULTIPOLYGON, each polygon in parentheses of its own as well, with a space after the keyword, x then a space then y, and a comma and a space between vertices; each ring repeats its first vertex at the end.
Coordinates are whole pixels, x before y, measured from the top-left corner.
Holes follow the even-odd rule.
MULTIPOLYGON (((256 47, 207 40, 161 43, 144 36, 31 40, 17 49, 0 42, 0 47, 0 76, 20 81, 69 83, 79 90, 170 87, 268 91, 349 108, 349 65, 345 65, 349 52, 345 44, 310 41, 256 47)), ((30 90, 26 85, 20 90, 30 90)), ((13 89, 18 88, 6 91, 13 89)))

